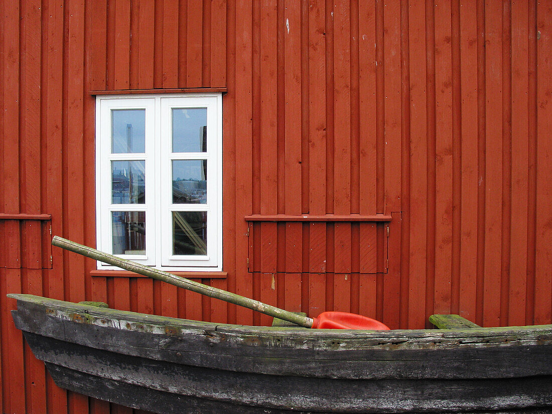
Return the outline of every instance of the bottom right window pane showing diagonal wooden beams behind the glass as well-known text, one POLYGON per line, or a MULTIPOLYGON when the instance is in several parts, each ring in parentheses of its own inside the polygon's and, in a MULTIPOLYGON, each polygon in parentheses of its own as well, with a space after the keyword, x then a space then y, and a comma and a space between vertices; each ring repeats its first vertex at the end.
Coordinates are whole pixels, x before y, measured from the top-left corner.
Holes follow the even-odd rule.
POLYGON ((173 254, 207 254, 205 211, 173 211, 173 254))

